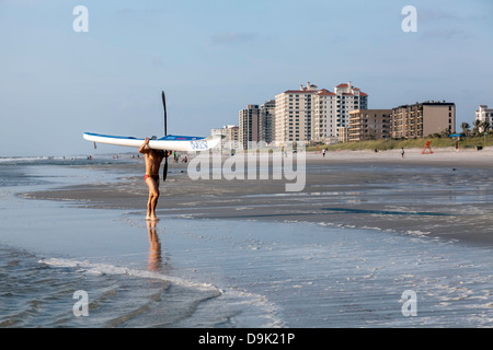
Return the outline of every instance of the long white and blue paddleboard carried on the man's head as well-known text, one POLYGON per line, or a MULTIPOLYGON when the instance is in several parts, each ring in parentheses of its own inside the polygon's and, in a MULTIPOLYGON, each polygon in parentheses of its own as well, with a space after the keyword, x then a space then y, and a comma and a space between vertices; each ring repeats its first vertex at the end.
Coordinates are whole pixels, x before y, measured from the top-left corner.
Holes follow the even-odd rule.
MULTIPOLYGON (((83 137, 88 141, 95 143, 106 143, 114 145, 127 145, 140 148, 145 141, 142 138, 125 137, 125 136, 112 136, 93 132, 84 132, 83 137)), ((215 148, 220 141, 220 138, 202 138, 191 136, 173 136, 169 135, 160 139, 149 140, 149 148, 154 150, 168 150, 168 151, 206 151, 215 148)))

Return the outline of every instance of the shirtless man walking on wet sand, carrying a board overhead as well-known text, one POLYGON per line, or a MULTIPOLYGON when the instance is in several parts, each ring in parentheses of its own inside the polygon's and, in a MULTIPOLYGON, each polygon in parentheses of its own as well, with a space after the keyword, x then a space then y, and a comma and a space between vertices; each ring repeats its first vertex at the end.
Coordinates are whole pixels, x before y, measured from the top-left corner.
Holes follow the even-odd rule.
POLYGON ((149 139, 146 138, 139 152, 146 154, 146 175, 144 179, 149 186, 149 200, 147 202, 147 220, 158 220, 156 217, 156 206, 159 198, 159 167, 164 158, 171 154, 171 151, 152 150, 149 148, 149 139))

